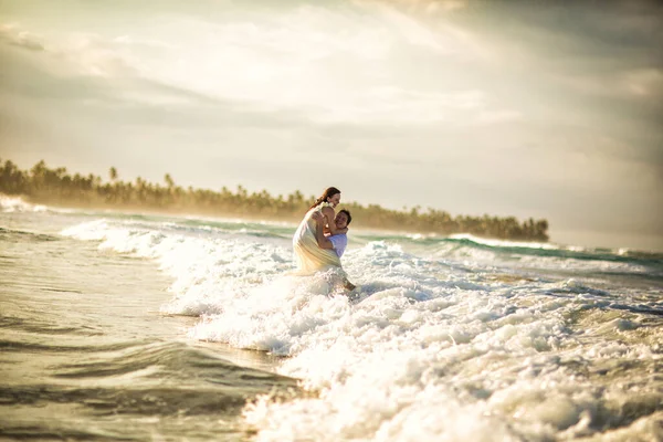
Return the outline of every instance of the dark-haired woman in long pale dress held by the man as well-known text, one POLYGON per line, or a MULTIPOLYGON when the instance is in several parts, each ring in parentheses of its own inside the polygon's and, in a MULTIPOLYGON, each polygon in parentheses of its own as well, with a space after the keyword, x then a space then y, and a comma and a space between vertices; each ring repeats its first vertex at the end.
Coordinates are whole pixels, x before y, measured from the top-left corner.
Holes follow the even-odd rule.
POLYGON ((334 208, 340 202, 340 190, 327 188, 304 215, 304 220, 293 236, 293 249, 299 274, 312 274, 332 267, 340 269, 340 260, 334 250, 320 249, 316 239, 315 212, 322 212, 330 234, 346 233, 347 229, 337 229, 334 222, 334 208))

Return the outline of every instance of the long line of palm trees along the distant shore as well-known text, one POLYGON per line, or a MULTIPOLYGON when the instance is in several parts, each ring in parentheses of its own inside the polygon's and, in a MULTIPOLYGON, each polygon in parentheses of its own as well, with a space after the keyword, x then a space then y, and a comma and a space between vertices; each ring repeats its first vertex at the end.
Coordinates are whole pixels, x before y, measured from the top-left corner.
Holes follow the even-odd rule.
MULTIPOLYGON (((70 175, 64 167, 50 168, 42 160, 30 170, 21 170, 11 160, 0 160, 0 192, 23 196, 41 203, 74 207, 104 207, 155 211, 178 211, 207 215, 241 217, 299 221, 315 197, 304 197, 298 190, 287 196, 272 196, 266 190, 249 192, 227 187, 219 191, 182 188, 167 173, 164 182, 149 182, 140 177, 134 181, 119 179, 112 167, 108 180, 93 173, 70 175)), ((378 204, 357 202, 341 204, 352 213, 358 225, 368 229, 419 233, 471 233, 477 236, 517 241, 548 241, 548 221, 529 218, 519 222, 514 217, 452 217, 450 213, 417 207, 391 210, 378 204)))

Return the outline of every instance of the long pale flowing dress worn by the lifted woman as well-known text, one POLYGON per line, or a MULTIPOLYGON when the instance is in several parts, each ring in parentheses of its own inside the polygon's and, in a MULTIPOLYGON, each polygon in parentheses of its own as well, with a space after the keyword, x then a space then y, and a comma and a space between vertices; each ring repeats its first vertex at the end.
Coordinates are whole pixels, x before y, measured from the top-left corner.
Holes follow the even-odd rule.
POLYGON ((297 273, 301 275, 309 275, 334 267, 341 269, 340 260, 336 252, 333 249, 320 249, 317 243, 317 223, 311 217, 313 213, 319 212, 324 207, 332 207, 332 204, 323 202, 306 212, 293 236, 297 273))

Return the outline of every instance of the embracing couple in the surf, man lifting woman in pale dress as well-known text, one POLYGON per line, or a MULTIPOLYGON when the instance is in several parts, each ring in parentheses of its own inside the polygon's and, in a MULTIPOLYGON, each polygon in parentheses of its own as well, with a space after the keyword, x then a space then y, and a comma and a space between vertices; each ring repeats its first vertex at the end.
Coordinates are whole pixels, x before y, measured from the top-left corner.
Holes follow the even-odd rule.
POLYGON ((348 244, 346 235, 352 221, 350 212, 334 208, 340 202, 340 190, 330 187, 317 199, 304 215, 304 220, 293 236, 293 249, 299 274, 338 269, 344 275, 344 286, 355 288, 340 265, 340 256, 348 244))

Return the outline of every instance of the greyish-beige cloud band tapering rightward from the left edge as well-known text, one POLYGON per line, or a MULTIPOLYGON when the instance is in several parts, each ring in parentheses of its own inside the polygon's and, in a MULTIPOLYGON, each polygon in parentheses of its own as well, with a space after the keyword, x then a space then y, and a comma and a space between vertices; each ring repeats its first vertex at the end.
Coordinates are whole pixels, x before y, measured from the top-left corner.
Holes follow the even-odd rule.
POLYGON ((221 131, 229 127, 292 126, 304 120, 301 115, 265 113, 244 103, 140 77, 109 83, 98 76, 54 74, 40 60, 20 57, 1 48, 0 57, 7 63, 0 85, 0 109, 24 116, 36 127, 45 122, 63 126, 64 119, 67 125, 74 122, 72 130, 90 125, 221 131))

